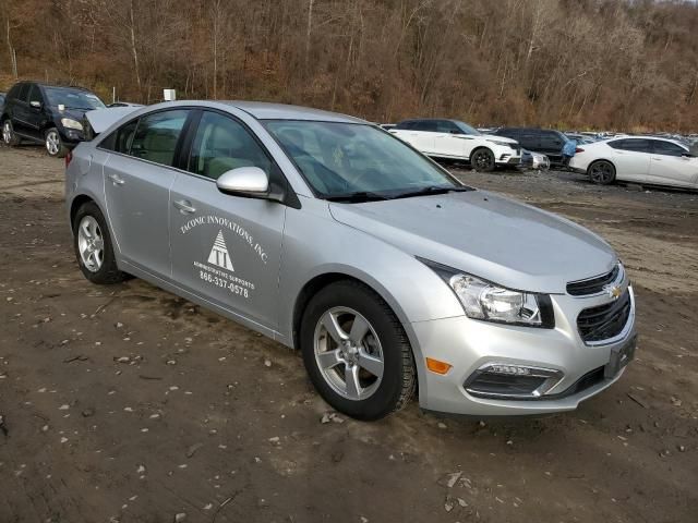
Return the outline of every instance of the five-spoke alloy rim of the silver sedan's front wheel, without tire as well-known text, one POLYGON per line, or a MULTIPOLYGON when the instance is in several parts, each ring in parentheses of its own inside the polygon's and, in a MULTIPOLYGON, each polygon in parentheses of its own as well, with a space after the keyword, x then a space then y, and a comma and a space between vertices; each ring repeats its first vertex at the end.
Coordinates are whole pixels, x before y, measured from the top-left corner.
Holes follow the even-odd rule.
POLYGON ((348 307, 333 307, 315 327, 315 362, 323 378, 345 399, 373 396, 383 379, 381 342, 371 324, 348 307))

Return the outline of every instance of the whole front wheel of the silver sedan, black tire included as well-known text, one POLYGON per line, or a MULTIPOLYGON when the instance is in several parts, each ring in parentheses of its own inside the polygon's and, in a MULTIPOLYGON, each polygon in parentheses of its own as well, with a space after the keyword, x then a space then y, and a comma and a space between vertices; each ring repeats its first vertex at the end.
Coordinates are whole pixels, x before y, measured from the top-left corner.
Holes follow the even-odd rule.
POLYGON ((348 416, 380 419, 414 393, 407 335, 390 307, 362 283, 342 280, 315 294, 303 314, 300 344, 315 389, 348 416))

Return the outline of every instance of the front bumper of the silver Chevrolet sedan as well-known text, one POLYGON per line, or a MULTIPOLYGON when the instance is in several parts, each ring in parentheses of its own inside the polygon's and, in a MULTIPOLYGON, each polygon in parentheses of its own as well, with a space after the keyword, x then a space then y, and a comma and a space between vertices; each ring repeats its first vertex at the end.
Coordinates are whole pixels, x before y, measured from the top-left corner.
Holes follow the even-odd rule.
POLYGON ((447 362, 446 375, 425 370, 420 379, 420 406, 430 411, 477 416, 542 415, 575 410, 583 400, 614 384, 625 366, 611 366, 614 353, 636 337, 635 299, 622 336, 590 345, 577 330, 577 316, 607 302, 605 296, 553 295, 554 329, 506 326, 466 316, 411 324, 423 357, 447 362), (562 379, 535 399, 480 398, 466 390, 468 379, 488 364, 510 364, 558 370, 562 379), (604 369, 613 368, 609 375, 604 369), (592 379, 593 378, 593 379, 592 379))

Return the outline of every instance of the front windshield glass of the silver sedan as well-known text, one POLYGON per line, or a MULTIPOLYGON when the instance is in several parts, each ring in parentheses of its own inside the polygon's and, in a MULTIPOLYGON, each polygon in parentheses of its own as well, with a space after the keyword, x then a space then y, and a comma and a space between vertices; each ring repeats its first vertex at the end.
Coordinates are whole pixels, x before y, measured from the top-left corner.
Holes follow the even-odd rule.
POLYGON ((372 125, 268 120, 267 130, 322 197, 385 197, 464 186, 405 143, 372 125))

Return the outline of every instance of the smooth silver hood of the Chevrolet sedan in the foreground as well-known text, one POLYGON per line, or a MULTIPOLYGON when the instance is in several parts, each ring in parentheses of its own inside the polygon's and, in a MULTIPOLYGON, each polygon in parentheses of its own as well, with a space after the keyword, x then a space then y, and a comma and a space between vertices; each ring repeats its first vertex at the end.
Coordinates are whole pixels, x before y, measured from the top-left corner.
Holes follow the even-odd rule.
POLYGON ((329 204, 333 217, 401 251, 510 289, 564 293, 616 263, 597 234, 484 191, 329 204))

